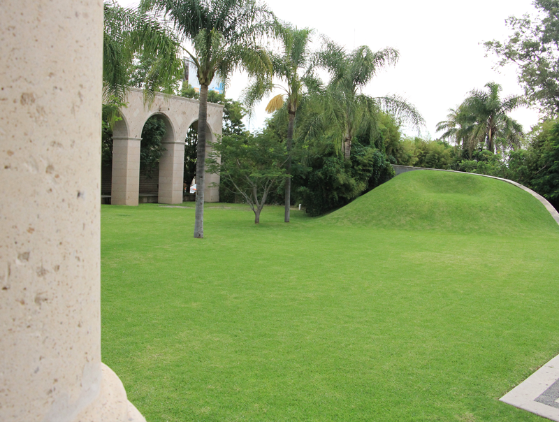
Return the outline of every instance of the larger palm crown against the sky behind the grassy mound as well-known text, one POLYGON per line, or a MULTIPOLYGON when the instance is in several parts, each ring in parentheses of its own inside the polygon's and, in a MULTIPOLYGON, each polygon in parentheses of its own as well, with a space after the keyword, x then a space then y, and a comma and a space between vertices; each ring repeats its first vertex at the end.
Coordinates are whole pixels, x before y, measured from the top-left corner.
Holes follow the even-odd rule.
POLYGON ((521 96, 500 99, 502 87, 495 82, 488 82, 485 87, 487 92, 472 90, 462 105, 464 112, 475 119, 472 136, 484 140, 491 152, 495 152, 497 142, 501 143, 501 147, 519 145, 523 134, 522 126, 507 116, 507 113, 523 105, 524 99, 521 96))

